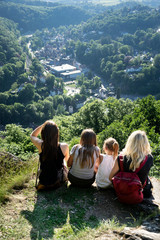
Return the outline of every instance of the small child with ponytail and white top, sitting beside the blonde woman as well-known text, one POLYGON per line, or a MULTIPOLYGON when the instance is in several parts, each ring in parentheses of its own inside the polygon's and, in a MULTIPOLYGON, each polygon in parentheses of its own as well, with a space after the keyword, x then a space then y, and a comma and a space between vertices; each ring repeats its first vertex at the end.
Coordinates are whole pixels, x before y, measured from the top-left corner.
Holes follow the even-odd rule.
POLYGON ((95 167, 96 183, 99 188, 104 189, 111 185, 109 175, 118 156, 118 150, 119 144, 114 138, 108 138, 104 141, 103 151, 105 154, 100 154, 95 167))

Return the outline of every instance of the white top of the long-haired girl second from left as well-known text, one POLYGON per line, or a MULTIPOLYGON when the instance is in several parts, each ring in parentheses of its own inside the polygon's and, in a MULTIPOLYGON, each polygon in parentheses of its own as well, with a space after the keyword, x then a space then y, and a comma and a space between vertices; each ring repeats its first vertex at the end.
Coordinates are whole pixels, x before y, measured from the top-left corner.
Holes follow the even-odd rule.
POLYGON ((78 150, 80 148, 82 148, 82 152, 85 149, 85 147, 82 147, 81 145, 74 145, 73 148, 71 149, 70 155, 74 154, 74 156, 73 156, 73 164, 72 164, 72 167, 70 168, 70 173, 74 177, 78 177, 81 179, 91 179, 94 176, 94 166, 95 166, 96 159, 99 156, 99 147, 95 146, 95 151, 93 154, 94 164, 91 168, 87 166, 85 166, 84 168, 81 168, 79 164, 79 159, 77 159, 78 150))

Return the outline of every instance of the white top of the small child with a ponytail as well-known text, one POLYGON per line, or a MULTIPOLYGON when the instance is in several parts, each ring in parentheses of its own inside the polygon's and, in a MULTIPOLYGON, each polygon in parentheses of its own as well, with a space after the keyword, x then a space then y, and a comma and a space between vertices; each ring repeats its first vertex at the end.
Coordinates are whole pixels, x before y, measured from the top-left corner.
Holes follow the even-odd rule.
POLYGON ((98 167, 98 171, 96 174, 96 183, 100 188, 107 188, 111 185, 111 181, 109 180, 110 172, 113 168, 115 160, 112 155, 101 154, 103 156, 103 160, 98 167))

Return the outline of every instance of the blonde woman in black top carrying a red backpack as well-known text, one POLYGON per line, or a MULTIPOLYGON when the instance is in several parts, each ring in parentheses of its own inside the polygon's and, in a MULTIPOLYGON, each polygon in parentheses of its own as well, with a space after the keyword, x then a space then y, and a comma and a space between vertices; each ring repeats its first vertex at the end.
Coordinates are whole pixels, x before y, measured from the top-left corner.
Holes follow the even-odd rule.
MULTIPOLYGON (((144 197, 150 197, 152 194, 152 184, 148 178, 148 174, 150 168, 153 166, 153 157, 151 155, 151 148, 146 133, 141 130, 134 131, 129 136, 126 146, 120 156, 123 156, 123 168, 125 172, 135 172, 141 164, 143 165, 146 156, 148 157, 137 175, 141 180, 142 185, 146 184, 143 191, 144 197)), ((120 170, 119 161, 119 158, 115 161, 114 167, 109 176, 110 181, 120 170)))

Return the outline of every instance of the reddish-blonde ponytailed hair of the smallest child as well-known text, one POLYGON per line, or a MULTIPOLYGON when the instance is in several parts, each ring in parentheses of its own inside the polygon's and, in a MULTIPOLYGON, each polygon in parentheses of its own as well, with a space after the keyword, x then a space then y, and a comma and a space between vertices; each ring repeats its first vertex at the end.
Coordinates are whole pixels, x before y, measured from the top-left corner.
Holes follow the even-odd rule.
POLYGON ((106 149, 113 152, 113 157, 115 159, 118 156, 118 151, 119 151, 119 144, 116 141, 116 139, 112 137, 107 138, 103 144, 103 151, 105 152, 106 149))

